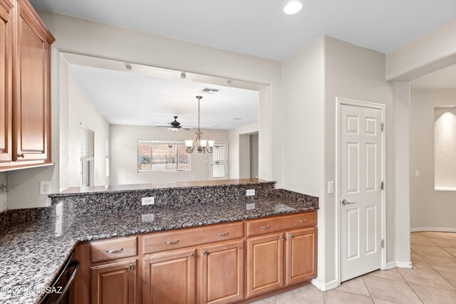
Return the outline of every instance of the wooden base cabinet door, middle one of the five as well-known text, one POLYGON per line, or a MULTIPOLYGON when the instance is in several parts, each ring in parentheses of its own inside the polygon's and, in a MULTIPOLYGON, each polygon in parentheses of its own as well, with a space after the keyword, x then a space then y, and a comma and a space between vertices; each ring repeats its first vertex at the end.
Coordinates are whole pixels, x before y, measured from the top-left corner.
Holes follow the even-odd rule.
POLYGON ((244 298, 244 241, 201 249, 201 302, 233 303, 244 298))

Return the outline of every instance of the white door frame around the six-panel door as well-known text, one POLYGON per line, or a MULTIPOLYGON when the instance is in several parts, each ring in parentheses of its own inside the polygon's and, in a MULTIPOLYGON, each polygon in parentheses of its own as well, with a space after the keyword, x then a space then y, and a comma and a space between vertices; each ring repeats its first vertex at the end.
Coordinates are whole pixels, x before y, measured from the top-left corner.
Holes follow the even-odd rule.
POLYGON ((336 280, 337 285, 341 285, 341 193, 340 193, 340 174, 341 174, 341 134, 340 134, 340 123, 341 123, 341 106, 351 105, 354 107, 371 108, 380 110, 382 114, 383 132, 382 132, 382 239, 384 240, 384 246, 381 248, 381 270, 386 270, 386 127, 385 127, 385 114, 386 105, 381 103, 370 103, 367 101, 353 100, 348 98, 336 97, 336 180, 335 180, 335 201, 336 204, 336 280))

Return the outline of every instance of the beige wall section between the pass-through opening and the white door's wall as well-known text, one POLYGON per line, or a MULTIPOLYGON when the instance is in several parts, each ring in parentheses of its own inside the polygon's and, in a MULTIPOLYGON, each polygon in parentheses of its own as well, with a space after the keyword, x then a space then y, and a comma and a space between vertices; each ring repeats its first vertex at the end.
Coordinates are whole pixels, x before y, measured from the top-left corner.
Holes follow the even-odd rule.
MULTIPOLYGON (((283 187, 320 198, 324 193, 325 40, 323 36, 317 38, 287 58, 282 67, 283 187), (291 149, 299 154, 294 154, 291 149)), ((326 206, 324 201, 320 201, 317 281, 322 285, 327 282, 328 271, 326 239, 328 234, 333 234, 326 230, 325 214, 326 206)))

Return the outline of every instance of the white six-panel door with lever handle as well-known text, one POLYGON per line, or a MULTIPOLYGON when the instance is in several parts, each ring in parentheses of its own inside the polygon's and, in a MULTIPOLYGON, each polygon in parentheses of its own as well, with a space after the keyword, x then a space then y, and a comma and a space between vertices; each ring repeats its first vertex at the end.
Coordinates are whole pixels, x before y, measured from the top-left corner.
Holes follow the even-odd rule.
POLYGON ((382 112, 341 105, 341 281, 381 267, 382 112))

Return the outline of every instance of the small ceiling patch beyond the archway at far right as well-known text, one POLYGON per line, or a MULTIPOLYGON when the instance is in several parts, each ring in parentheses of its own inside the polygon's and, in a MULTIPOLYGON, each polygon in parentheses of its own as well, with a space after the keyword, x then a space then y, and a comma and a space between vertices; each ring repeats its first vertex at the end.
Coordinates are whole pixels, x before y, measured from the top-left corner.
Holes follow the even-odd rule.
POLYGON ((410 86, 425 90, 456 88, 456 65, 421 76, 413 80, 410 86))

